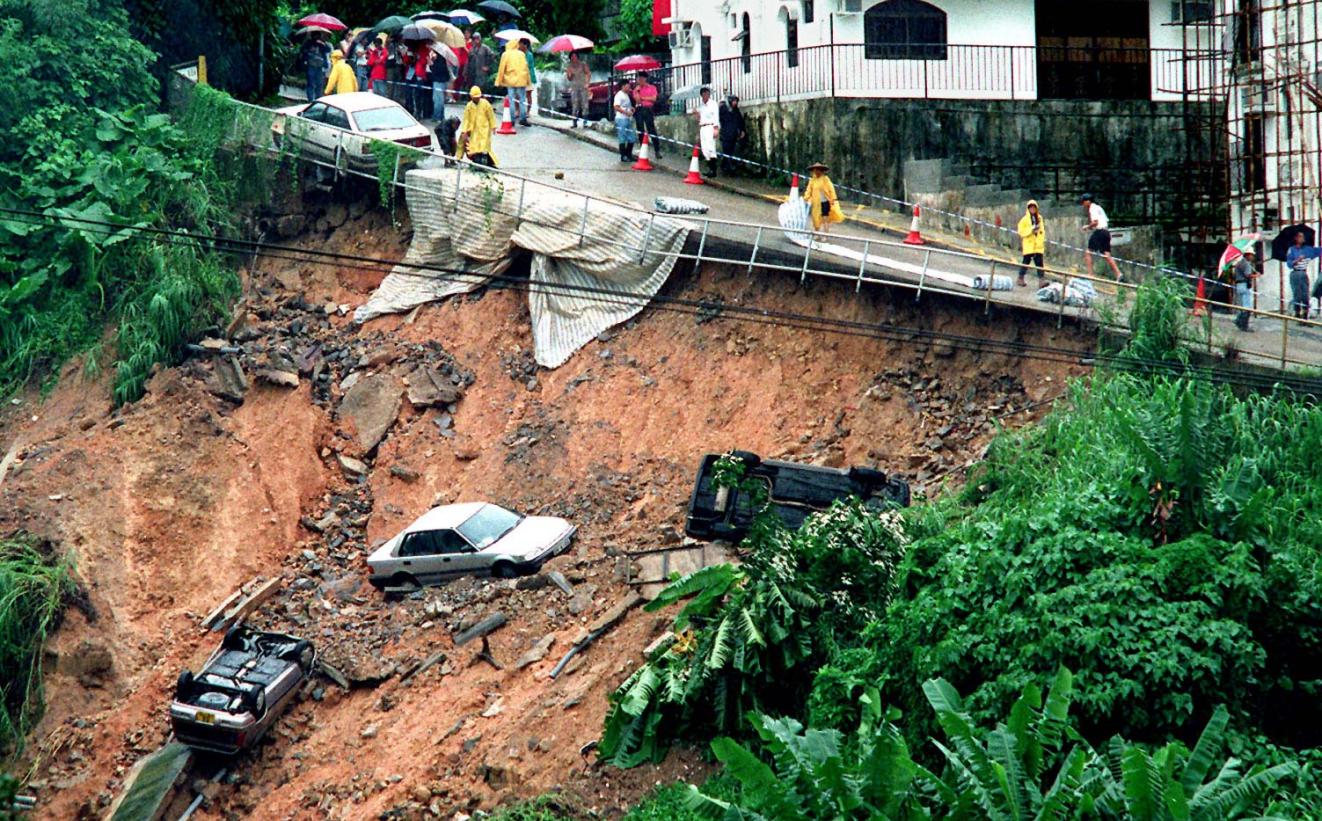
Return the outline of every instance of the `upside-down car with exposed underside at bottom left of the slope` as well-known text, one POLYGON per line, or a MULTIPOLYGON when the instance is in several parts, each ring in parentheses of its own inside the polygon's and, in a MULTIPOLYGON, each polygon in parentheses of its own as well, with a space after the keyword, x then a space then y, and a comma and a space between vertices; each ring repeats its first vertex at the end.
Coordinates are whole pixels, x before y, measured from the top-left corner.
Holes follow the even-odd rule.
POLYGON ((169 706, 175 736, 196 750, 234 755, 255 744, 312 674, 305 639, 234 627, 194 676, 178 674, 169 706))

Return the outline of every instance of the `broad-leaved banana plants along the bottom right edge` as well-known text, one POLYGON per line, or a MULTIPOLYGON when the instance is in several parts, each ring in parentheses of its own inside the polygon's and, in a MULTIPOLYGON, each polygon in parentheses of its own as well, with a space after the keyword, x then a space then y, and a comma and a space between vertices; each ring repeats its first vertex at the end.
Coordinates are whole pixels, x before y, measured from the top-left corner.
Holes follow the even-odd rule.
POLYGON ((1252 767, 1224 756, 1228 715, 1219 709, 1194 750, 1175 742, 1147 752, 1113 738, 1099 754, 1077 738, 1068 714, 1072 677, 1050 694, 1030 685, 993 730, 978 727, 956 690, 924 685, 936 714, 940 775, 914 760, 876 691, 863 697, 858 731, 805 730, 795 719, 754 715, 758 750, 730 738, 711 743, 739 781, 731 799, 690 788, 687 805, 709 817, 797 818, 1116 818, 1228 821, 1285 812, 1269 793, 1293 764, 1252 767))

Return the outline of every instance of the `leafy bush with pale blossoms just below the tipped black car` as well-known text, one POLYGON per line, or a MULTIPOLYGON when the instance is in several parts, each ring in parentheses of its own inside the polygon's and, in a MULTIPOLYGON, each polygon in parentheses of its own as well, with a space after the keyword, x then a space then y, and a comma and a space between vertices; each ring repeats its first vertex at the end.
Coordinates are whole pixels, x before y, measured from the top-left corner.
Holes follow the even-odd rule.
MULTIPOLYGON (((738 473, 720 481, 740 481, 738 473)), ((791 533, 759 517, 742 567, 672 583, 648 609, 686 602, 677 640, 611 697, 600 755, 631 767, 690 734, 738 732, 752 711, 796 711, 838 643, 888 600, 904 531, 895 512, 836 502, 791 533)))

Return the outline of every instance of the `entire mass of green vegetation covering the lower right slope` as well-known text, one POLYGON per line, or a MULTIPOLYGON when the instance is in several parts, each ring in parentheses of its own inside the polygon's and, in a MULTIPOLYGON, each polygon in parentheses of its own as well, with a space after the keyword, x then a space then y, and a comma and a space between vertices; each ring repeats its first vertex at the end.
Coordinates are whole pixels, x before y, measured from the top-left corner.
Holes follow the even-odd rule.
MULTIPOLYGON (((1183 311, 1146 286, 1125 354, 1178 358, 1183 311)), ((682 604, 677 640, 612 695, 602 754, 713 743, 746 784, 727 817, 873 817, 883 797, 923 812, 880 817, 1035 817, 1066 776, 1067 817, 1315 817, 1319 448, 1303 398, 1095 374, 954 497, 764 522, 742 567, 672 584, 657 606, 682 604), (1026 769, 1006 750, 1023 752, 1025 717, 1064 719, 1035 694, 1059 669, 1068 743, 1034 742, 1026 769), (890 785, 859 804, 874 777, 890 785), (1013 806, 992 812, 1002 779, 1013 806)))

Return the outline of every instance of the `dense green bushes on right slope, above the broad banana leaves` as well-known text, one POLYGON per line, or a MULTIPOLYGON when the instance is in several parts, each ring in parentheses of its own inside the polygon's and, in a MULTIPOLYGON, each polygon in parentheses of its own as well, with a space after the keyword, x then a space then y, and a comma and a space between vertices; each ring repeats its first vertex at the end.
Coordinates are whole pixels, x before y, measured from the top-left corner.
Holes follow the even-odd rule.
POLYGON ((944 677, 986 719, 1067 665, 1089 734, 1161 742, 1225 702, 1240 727, 1311 742, 1319 444, 1322 411, 1282 397, 1079 385, 995 442, 964 504, 914 517, 904 594, 869 646, 907 709, 944 677))

